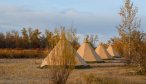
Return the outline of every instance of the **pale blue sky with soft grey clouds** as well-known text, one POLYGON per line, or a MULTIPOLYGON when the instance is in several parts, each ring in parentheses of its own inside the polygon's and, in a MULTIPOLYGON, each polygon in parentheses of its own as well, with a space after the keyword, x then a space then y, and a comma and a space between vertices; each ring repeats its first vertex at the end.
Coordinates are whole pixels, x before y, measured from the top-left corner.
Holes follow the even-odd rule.
MULTIPOLYGON (((0 0, 0 32, 39 28, 53 31, 73 26, 80 40, 98 34, 99 41, 117 36, 118 12, 124 0, 0 0)), ((138 7, 141 30, 146 32, 146 0, 132 0, 138 7)))

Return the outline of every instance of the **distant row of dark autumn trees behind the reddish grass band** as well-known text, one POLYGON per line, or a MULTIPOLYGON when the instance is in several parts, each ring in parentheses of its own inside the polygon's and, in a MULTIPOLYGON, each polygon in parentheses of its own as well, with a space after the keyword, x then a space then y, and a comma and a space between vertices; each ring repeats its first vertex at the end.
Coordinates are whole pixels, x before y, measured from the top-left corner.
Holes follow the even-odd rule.
MULTIPOLYGON (((76 48, 78 46, 78 39, 75 31, 70 28, 67 31, 68 36, 72 37, 70 40, 72 45, 76 48)), ((8 49, 45 49, 53 48, 60 39, 59 29, 54 32, 45 30, 44 33, 39 29, 23 28, 21 32, 12 30, 9 32, 0 32, 0 48, 8 49)))

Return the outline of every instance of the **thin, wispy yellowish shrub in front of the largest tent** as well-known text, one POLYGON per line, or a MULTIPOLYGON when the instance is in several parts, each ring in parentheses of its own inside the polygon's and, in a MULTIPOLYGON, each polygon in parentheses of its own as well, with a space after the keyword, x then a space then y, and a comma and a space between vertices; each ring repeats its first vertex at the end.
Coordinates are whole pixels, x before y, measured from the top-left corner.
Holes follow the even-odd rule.
POLYGON ((61 30, 61 39, 49 58, 50 79, 52 84, 66 84, 67 79, 75 66, 76 52, 70 47, 70 42, 65 38, 65 30, 61 30))

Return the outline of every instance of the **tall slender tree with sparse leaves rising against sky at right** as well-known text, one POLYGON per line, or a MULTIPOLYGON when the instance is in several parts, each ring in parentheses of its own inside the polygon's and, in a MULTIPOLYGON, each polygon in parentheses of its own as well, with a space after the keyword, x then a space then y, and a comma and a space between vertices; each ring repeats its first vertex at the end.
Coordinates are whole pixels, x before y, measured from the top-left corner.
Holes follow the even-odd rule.
POLYGON ((140 20, 137 19, 138 9, 133 6, 131 0, 125 0, 124 6, 121 8, 119 15, 121 16, 121 24, 118 27, 119 35, 121 36, 125 53, 127 56, 127 61, 130 62, 131 59, 131 40, 132 33, 138 31, 140 28, 140 20), (128 49, 128 50, 127 50, 128 49), (128 51, 128 52, 126 52, 128 51))

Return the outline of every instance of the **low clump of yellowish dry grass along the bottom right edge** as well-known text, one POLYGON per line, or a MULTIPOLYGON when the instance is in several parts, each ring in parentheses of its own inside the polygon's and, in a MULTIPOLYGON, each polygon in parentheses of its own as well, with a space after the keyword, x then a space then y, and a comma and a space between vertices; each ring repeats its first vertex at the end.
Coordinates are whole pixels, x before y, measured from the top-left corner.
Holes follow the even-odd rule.
POLYGON ((145 84, 146 82, 141 78, 136 77, 127 77, 127 76, 107 76, 107 75, 95 75, 88 74, 81 76, 81 78, 70 82, 69 84, 145 84))

